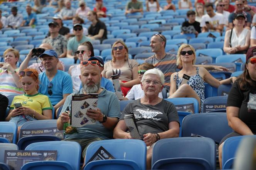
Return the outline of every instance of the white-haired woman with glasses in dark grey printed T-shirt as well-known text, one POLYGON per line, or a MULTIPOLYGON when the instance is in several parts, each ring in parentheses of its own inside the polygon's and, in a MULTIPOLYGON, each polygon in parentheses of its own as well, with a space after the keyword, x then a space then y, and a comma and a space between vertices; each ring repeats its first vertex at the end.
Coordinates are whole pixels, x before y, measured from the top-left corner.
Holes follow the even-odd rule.
POLYGON ((147 169, 151 169, 153 144, 163 138, 179 137, 179 116, 175 106, 158 97, 164 82, 164 75, 160 70, 147 70, 141 79, 144 97, 128 103, 114 129, 115 139, 132 139, 127 132, 124 115, 135 116, 140 138, 148 147, 147 169))

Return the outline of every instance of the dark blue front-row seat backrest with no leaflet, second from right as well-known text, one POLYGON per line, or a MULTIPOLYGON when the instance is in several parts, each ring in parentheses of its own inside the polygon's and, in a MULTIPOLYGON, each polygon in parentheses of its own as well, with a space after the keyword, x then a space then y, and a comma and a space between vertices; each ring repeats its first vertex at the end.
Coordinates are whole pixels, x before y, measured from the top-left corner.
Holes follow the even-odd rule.
POLYGON ((211 170, 215 170, 216 145, 211 138, 184 137, 161 139, 153 147, 152 165, 157 160, 166 158, 203 158, 210 163, 211 170))

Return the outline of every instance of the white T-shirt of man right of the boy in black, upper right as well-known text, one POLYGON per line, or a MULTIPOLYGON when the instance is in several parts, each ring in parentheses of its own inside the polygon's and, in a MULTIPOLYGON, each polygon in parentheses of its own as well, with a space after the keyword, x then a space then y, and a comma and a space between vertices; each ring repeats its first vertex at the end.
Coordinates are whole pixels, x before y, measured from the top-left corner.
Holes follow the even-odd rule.
POLYGON ((214 27, 217 27, 217 25, 225 24, 225 18, 221 13, 215 13, 214 17, 212 18, 208 14, 203 15, 200 27, 204 27, 206 25, 205 22, 207 21, 211 23, 214 27))

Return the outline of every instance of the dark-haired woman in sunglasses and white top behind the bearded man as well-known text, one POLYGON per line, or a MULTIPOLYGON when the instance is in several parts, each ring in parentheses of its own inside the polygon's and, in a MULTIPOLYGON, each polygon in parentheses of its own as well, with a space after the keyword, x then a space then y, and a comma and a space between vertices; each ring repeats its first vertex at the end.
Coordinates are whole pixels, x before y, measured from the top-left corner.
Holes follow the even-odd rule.
MULTIPOLYGON (((90 57, 93 57, 94 56, 93 45, 90 42, 81 43, 77 48, 76 56, 81 62, 84 60, 88 60, 90 57)), ((80 83, 81 83, 81 80, 79 78, 79 75, 81 74, 80 63, 69 67, 68 73, 71 75, 71 79, 73 82, 73 91, 76 92, 80 90, 80 83)))

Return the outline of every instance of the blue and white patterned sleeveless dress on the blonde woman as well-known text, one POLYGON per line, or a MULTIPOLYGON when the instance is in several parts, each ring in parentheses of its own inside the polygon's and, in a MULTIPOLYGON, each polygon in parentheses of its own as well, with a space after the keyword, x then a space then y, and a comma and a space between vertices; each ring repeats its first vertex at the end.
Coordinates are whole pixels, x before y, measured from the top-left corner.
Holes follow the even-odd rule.
MULTIPOLYGON (((199 75, 199 68, 197 67, 197 73, 196 75, 193 75, 189 78, 189 81, 187 82, 190 87, 193 88, 195 93, 200 98, 200 112, 202 113, 203 111, 203 102, 204 102, 204 80, 203 78, 199 75)), ((175 80, 175 77, 173 77, 173 80, 175 80)), ((178 89, 180 87, 180 83, 182 82, 182 78, 179 78, 179 74, 177 72, 176 75, 176 88, 178 89)))

